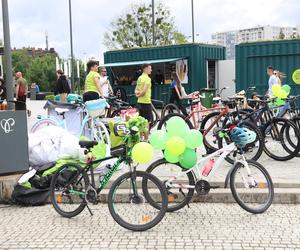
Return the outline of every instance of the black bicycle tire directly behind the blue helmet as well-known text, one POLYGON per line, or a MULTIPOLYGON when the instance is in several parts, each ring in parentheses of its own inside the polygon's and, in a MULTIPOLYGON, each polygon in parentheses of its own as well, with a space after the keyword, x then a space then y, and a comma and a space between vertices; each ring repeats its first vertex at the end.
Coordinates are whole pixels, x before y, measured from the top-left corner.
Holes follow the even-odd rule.
MULTIPOLYGON (((241 121, 241 122, 239 122, 239 125, 241 127, 249 128, 251 131, 254 131, 256 133, 256 140, 253 143, 247 144, 243 149, 245 150, 245 152, 247 152, 249 149, 253 148, 253 146, 255 147, 256 143, 258 142, 259 145, 257 147, 256 153, 250 159, 247 159, 247 160, 257 161, 261 157, 261 155, 264 151, 264 148, 265 148, 264 147, 265 146, 264 145, 264 137, 263 137, 260 129, 254 123, 252 123, 250 121, 241 121)), ((230 127, 230 126, 231 126, 231 124, 226 125, 226 127, 230 127)), ((227 144, 232 143, 230 138, 225 138, 225 141, 227 144)), ((219 147, 219 149, 221 149, 223 147, 223 138, 218 138, 218 147, 219 147)), ((230 157, 230 154, 225 157, 225 160, 231 164, 234 163, 234 159, 230 157)))

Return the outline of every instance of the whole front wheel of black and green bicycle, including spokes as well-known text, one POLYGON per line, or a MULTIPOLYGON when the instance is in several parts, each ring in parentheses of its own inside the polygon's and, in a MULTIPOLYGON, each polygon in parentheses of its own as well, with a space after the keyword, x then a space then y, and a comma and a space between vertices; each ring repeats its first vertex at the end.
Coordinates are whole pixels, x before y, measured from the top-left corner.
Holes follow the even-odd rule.
POLYGON ((156 226, 165 216, 168 207, 167 191, 157 177, 143 171, 121 175, 108 194, 108 208, 113 219, 122 227, 132 231, 145 231, 156 226), (160 205, 154 208, 145 197, 142 181, 148 182, 146 192, 155 197, 160 205))

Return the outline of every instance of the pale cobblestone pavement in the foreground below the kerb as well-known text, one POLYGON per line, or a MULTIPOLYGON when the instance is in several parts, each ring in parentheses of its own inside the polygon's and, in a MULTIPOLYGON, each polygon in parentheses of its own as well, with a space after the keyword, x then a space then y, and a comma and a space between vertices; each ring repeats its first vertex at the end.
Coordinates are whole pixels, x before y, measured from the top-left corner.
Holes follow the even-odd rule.
POLYGON ((147 232, 118 226, 106 205, 72 219, 51 205, 0 209, 0 249, 300 249, 300 206, 252 215, 238 205, 191 204, 147 232))

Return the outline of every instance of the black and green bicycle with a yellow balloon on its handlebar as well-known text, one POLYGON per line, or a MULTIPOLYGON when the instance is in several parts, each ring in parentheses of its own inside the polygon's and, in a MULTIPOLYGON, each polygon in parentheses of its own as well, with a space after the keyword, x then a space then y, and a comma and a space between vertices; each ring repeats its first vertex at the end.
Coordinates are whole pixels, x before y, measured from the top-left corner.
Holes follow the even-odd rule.
POLYGON ((88 203, 98 204, 99 194, 122 163, 129 167, 129 172, 118 177, 108 193, 108 208, 113 219, 122 227, 133 231, 145 231, 157 225, 164 217, 167 206, 167 192, 159 179, 144 171, 137 171, 133 165, 131 151, 139 141, 139 129, 119 126, 118 131, 127 135, 124 145, 111 150, 111 156, 95 160, 91 156, 91 148, 97 145, 96 141, 80 141, 81 147, 86 149, 88 160, 84 166, 77 163, 63 165, 53 176, 50 186, 51 203, 61 216, 71 218, 80 214, 85 207, 93 215, 88 203), (117 158, 115 164, 101 176, 96 186, 94 167, 100 162, 117 158), (90 172, 90 179, 88 177, 90 172), (147 190, 147 191, 145 191, 147 190), (154 208, 149 202, 152 200, 160 204, 154 208), (67 208, 66 208, 67 207, 67 208))

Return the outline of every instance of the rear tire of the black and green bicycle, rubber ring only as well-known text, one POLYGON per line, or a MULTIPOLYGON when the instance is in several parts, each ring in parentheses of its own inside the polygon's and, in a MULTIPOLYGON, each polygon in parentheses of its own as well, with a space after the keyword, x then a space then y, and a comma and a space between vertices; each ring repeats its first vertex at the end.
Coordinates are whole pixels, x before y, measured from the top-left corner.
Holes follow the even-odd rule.
MULTIPOLYGON (((79 173, 82 174, 82 178, 83 178, 84 183, 85 183, 85 186, 84 186, 85 190, 87 190, 87 188, 89 186, 89 177, 88 177, 87 173, 83 170, 83 168, 80 165, 76 164, 76 163, 64 164, 63 166, 61 166, 56 171, 56 173, 52 177, 51 184, 50 184, 50 201, 51 201, 51 204, 53 205, 55 211, 58 214, 60 214, 63 217, 66 217, 66 218, 72 218, 72 217, 80 214, 83 211, 83 209, 86 207, 86 202, 83 200, 83 202, 80 203, 78 208, 75 209, 72 212, 65 212, 62 209, 60 209, 60 207, 58 206, 58 204, 56 202, 56 197, 55 197, 55 188, 56 188, 56 184, 58 185, 57 180, 58 180, 61 172, 63 171, 63 169, 65 169, 67 167, 71 167, 72 169, 75 168, 76 171, 78 171, 79 173)), ((73 179, 74 179, 74 177, 72 177, 71 180, 73 180, 73 179)), ((70 181, 68 181, 68 182, 70 182, 70 181)))

